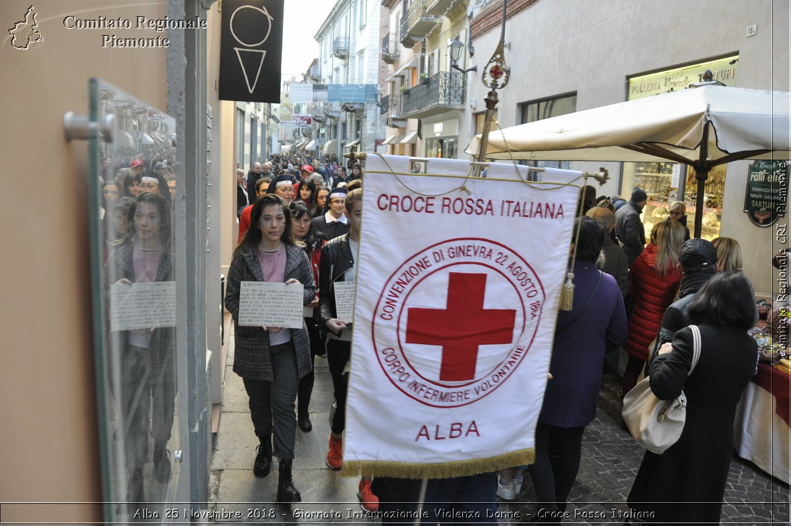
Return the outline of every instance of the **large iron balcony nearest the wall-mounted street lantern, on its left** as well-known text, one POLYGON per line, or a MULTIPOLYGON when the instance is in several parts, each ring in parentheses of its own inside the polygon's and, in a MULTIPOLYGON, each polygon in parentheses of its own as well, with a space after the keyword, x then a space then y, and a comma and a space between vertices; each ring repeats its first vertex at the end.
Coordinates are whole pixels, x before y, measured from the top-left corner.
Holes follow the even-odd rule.
POLYGON ((403 93, 403 116, 425 118, 464 109, 467 98, 467 75, 458 71, 440 71, 403 93))

